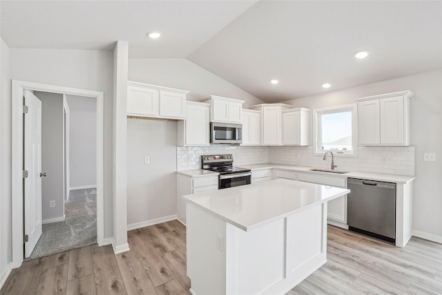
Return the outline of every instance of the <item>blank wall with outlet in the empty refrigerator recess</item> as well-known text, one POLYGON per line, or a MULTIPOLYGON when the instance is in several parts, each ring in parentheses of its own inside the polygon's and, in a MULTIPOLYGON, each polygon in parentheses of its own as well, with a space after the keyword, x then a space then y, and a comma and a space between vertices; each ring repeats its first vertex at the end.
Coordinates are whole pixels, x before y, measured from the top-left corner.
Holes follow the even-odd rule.
POLYGON ((176 214, 176 134, 176 122, 127 121, 128 227, 176 214))

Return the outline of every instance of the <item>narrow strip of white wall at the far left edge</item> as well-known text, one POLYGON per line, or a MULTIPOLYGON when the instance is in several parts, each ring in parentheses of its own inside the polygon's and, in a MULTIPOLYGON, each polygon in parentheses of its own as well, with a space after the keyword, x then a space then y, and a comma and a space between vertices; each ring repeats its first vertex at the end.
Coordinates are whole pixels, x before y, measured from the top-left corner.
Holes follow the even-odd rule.
POLYGON ((0 288, 12 262, 10 48, 0 39, 0 288))

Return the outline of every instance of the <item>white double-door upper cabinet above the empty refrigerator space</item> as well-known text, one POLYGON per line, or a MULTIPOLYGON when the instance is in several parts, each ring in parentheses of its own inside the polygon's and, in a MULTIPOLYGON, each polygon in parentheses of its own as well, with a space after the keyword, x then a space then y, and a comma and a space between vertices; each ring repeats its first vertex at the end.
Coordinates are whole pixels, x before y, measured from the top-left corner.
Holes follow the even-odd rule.
POLYGON ((184 120, 186 95, 189 91, 138 82, 128 82, 127 114, 184 120))

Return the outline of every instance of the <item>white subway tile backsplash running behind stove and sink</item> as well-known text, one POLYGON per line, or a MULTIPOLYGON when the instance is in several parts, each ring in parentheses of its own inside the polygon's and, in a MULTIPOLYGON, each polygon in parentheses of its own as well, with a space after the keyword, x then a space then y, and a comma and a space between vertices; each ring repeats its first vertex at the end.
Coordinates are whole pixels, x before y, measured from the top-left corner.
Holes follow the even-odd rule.
MULTIPOLYGON (((329 168, 331 157, 314 155, 313 146, 211 146, 177 147, 177 171, 200 169, 201 155, 233 154, 235 166, 275 163, 329 168)), ((358 146, 357 157, 334 158, 338 170, 414 175, 414 146, 358 146)))

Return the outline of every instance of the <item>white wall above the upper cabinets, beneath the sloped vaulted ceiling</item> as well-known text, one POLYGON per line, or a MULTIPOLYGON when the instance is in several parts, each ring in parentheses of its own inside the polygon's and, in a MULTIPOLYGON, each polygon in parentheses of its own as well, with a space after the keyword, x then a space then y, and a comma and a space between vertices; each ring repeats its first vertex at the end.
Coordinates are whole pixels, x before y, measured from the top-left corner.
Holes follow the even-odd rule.
POLYGON ((129 59, 128 79, 190 91, 187 99, 193 101, 220 95, 245 100, 244 106, 262 104, 260 99, 187 59, 129 59))

